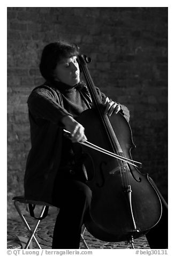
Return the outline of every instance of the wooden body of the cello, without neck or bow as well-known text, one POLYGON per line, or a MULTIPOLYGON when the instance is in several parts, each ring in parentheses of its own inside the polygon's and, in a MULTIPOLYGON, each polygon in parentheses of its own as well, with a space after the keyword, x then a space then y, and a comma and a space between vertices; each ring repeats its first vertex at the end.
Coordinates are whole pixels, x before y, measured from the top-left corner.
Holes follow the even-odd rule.
MULTIPOLYGON (((82 112, 77 120, 85 127, 89 141, 111 150, 96 110, 82 112)), ((120 113, 112 115, 110 122, 117 134, 124 157, 131 158, 130 151, 134 145, 130 125, 120 113)), ((87 185, 93 195, 90 215, 85 225, 94 237, 103 241, 124 241, 129 240, 131 236, 135 239, 158 223, 162 214, 162 205, 147 174, 141 174, 131 166, 126 170, 132 188, 131 202, 135 229, 125 184, 121 179, 120 172, 125 170, 121 170, 118 161, 109 155, 90 150, 86 146, 82 146, 82 153, 87 156, 85 161, 87 185)), ((122 161, 121 165, 124 165, 122 161)))

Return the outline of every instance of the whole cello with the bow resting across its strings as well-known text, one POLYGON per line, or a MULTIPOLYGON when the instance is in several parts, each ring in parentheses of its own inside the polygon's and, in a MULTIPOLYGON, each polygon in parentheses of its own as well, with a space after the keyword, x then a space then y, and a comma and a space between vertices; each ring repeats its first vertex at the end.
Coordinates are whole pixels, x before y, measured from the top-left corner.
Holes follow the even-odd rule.
POLYGON ((86 55, 78 55, 79 67, 94 104, 76 118, 85 127, 90 141, 75 146, 75 151, 84 156, 86 184, 93 195, 85 226, 97 239, 126 240, 133 246, 133 239, 159 222, 161 200, 148 174, 142 174, 136 165, 139 162, 132 160, 131 150, 135 145, 125 117, 120 112, 110 117, 104 115, 104 106, 87 68, 89 62, 86 55))

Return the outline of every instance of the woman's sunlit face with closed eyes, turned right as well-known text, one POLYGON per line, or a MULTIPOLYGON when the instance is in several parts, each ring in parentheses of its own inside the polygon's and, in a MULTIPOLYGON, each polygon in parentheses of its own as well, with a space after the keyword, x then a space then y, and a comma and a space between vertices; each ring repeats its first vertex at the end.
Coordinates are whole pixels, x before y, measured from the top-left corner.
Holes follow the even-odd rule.
POLYGON ((77 56, 63 59, 57 63, 54 72, 56 81, 63 82, 69 86, 75 86, 80 82, 80 69, 77 62, 77 56))

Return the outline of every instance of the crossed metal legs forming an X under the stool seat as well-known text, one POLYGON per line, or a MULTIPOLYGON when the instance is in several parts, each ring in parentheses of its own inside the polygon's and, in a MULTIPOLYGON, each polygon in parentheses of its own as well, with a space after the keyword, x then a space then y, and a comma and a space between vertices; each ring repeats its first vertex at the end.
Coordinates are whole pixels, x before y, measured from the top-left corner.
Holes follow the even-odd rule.
MULTIPOLYGON (((17 209, 18 214, 19 214, 19 216, 20 216, 21 219, 22 219, 22 222, 23 222, 23 223, 25 224, 25 226, 27 227, 27 230, 32 234, 31 237, 30 237, 30 238, 28 239, 28 241, 27 241, 27 244, 26 244, 26 246, 25 246, 25 249, 28 248, 29 244, 30 244, 31 241, 32 241, 32 238, 35 239, 35 242, 36 242, 37 246, 38 246, 40 249, 42 249, 41 246, 40 246, 40 244, 39 244, 39 242, 37 241, 36 237, 34 236, 34 234, 35 234, 35 232, 36 232, 36 229, 37 229, 37 226, 38 226, 39 223, 40 223, 40 220, 37 221, 37 223, 36 223, 36 225, 35 225, 35 228, 34 228, 34 231, 32 232, 31 227, 28 225, 28 223, 27 223, 27 221, 26 221, 24 215, 21 213, 21 211, 20 211, 20 209, 19 209, 18 201, 14 201, 14 206, 15 206, 15 208, 17 209)), ((42 208, 41 215, 43 215, 44 210, 45 210, 45 206, 42 208)), ((41 215, 40 215, 40 216, 41 216, 41 215)))

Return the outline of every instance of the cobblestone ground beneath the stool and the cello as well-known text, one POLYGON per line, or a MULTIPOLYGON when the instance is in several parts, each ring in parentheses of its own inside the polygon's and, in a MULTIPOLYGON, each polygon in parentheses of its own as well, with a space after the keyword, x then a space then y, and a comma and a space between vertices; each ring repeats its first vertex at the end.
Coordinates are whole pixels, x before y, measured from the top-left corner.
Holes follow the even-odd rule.
MULTIPOLYGON (((40 225, 37 228, 36 238, 43 249, 51 248, 52 233, 54 230, 54 223, 55 223, 56 216, 57 216, 57 212, 53 212, 51 214, 49 213, 49 215, 40 222, 40 225)), ((25 218, 27 219, 27 222, 32 228, 33 224, 35 223, 35 219, 29 217, 28 214, 25 215, 25 218)), ((7 219, 7 233, 15 236, 27 237, 27 229, 18 215, 15 215, 13 217, 10 216, 7 219)), ((69 230, 67 230, 67 236, 69 236, 69 230)), ((98 240, 94 238, 87 230, 83 234, 83 237, 85 238, 86 243, 89 246, 89 249, 90 248, 92 249, 129 249, 131 248, 131 244, 126 244, 125 242, 111 243, 111 242, 104 242, 104 241, 98 240)), ((142 249, 150 248, 145 236, 135 239, 134 247, 142 248, 142 249)), ((33 248, 37 248, 35 241, 33 241, 33 248)), ((80 248, 85 248, 84 245, 82 244, 82 241, 80 243, 80 248)))

